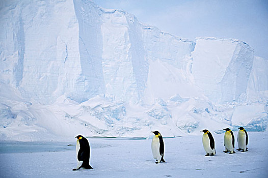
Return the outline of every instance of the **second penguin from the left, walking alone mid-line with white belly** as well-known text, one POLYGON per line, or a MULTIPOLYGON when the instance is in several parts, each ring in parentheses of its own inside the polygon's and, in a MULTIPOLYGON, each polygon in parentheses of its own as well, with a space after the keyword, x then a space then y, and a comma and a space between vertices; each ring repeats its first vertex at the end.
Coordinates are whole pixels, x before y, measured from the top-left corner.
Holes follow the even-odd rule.
POLYGON ((154 133, 154 137, 152 139, 152 154, 153 158, 156 159, 155 163, 160 163, 164 160, 164 141, 162 135, 158 131, 152 131, 154 133))

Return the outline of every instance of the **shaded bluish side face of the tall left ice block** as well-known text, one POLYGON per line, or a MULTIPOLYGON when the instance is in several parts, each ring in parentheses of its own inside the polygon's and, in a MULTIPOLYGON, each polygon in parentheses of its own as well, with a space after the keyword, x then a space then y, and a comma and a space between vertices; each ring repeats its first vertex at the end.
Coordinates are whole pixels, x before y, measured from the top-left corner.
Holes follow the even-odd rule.
POLYGON ((73 1, 79 27, 79 54, 82 74, 76 80, 76 91, 70 95, 79 103, 104 93, 102 73, 101 20, 92 2, 73 1), (93 25, 94 24, 94 25, 93 25))

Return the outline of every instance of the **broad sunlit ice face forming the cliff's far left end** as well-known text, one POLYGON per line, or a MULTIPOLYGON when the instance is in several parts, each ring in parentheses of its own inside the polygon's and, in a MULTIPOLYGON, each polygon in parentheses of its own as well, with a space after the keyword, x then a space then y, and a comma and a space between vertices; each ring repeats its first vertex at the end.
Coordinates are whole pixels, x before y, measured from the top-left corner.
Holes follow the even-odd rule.
POLYGON ((4 1, 0 18, 3 83, 43 104, 76 90, 82 69, 72 1, 4 1))

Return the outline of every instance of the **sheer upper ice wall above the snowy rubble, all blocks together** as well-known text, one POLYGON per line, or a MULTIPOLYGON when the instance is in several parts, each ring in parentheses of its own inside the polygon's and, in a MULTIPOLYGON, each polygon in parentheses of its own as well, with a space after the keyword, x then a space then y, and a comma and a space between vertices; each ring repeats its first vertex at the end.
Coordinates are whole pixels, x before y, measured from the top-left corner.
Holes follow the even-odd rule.
POLYGON ((65 94, 81 103, 104 94, 153 102, 196 97, 201 89, 224 103, 246 94, 254 52, 241 41, 193 42, 89 1, 2 6, 1 78, 25 99, 47 104, 65 94))

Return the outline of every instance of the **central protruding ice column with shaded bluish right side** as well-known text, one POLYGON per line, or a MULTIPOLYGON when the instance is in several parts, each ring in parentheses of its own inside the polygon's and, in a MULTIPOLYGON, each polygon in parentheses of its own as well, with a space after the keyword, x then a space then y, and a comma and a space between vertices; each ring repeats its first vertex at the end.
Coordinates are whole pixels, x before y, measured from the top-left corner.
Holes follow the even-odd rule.
POLYGON ((141 25, 135 16, 119 10, 101 10, 100 17, 105 96, 138 102, 148 74, 141 25))

